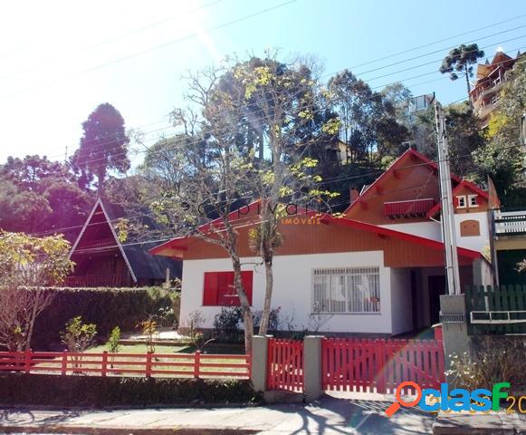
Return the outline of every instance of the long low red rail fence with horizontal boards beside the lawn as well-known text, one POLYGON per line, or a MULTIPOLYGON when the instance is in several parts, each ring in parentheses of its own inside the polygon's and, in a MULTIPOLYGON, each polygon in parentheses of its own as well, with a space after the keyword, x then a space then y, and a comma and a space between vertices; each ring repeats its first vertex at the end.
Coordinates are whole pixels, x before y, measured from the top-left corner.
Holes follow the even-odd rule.
POLYGON ((249 355, 0 352, 0 371, 95 376, 250 378, 249 355))

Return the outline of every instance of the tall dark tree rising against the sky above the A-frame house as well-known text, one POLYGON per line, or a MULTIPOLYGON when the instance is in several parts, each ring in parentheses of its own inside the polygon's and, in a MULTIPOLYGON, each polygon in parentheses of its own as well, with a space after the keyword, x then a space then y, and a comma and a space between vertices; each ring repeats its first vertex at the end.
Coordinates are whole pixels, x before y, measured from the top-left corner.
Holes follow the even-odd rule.
POLYGON ((117 109, 105 102, 82 122, 82 130, 81 146, 75 151, 72 162, 88 179, 92 175, 97 177, 97 189, 101 194, 109 170, 124 173, 129 169, 129 138, 124 119, 117 109))

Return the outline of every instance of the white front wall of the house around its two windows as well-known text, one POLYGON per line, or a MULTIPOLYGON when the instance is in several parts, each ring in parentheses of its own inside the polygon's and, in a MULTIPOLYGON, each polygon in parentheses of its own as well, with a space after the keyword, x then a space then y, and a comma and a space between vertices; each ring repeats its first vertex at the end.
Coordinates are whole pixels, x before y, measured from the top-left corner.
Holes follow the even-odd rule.
MULTIPOLYGON (((261 310, 264 294, 263 266, 253 266, 260 259, 243 258, 244 270, 253 270, 253 309, 261 310)), ((232 270, 230 259, 186 260, 183 267, 181 296, 181 326, 188 314, 198 310, 206 319, 203 327, 212 328, 215 314, 221 307, 202 306, 205 272, 232 270)), ((391 275, 384 267, 383 251, 276 256, 274 259, 273 307, 280 306, 282 320, 293 324, 294 330, 309 326, 311 314, 311 273, 320 267, 378 266, 380 272, 379 314, 334 314, 320 331, 340 333, 391 333, 391 275)))

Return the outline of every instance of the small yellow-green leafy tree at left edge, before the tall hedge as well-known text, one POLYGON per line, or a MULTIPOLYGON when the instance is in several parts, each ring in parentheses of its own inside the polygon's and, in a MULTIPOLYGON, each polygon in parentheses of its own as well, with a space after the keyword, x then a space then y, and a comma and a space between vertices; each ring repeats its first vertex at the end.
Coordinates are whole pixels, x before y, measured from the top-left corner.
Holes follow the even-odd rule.
POLYGON ((0 231, 0 346, 28 350, 34 321, 52 303, 72 271, 70 244, 62 236, 30 237, 0 231))

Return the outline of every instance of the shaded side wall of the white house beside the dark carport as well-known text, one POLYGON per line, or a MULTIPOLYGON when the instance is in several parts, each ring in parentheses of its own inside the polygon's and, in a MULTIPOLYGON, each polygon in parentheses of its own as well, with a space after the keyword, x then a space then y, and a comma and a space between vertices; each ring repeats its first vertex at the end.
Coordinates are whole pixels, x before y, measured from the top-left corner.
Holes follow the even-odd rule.
MULTIPOLYGON (((416 301, 415 301, 416 303, 416 301)), ((413 329, 411 301, 411 269, 391 268, 392 333, 406 333, 413 329)))

